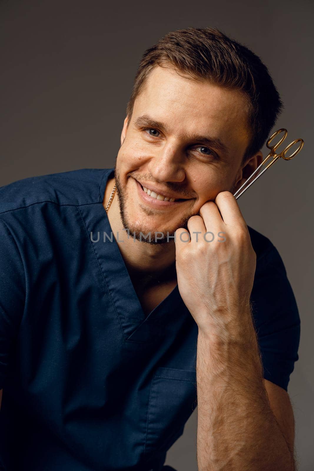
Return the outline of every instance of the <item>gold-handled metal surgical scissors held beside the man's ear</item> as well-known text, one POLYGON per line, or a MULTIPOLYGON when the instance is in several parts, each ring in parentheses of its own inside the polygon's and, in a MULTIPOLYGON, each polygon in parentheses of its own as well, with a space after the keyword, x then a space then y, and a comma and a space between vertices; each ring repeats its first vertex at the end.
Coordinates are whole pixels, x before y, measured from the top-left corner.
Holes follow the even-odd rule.
POLYGON ((284 128, 282 129, 279 129, 278 131, 274 132, 274 134, 268 139, 267 143, 266 143, 266 146, 268 149, 270 149, 270 152, 269 154, 265 157, 265 159, 263 160, 263 162, 258 165, 258 168, 250 175, 250 177, 248 179, 246 179, 246 181, 243 183, 243 185, 235 192, 233 193, 233 196, 235 196, 235 199, 237 200, 238 198, 240 198, 241 195, 243 195, 243 193, 261 176, 263 175, 264 172, 266 172, 267 169, 269 169, 273 163, 275 163, 280 157, 283 158, 283 160, 291 160, 293 159, 293 157, 295 157, 298 152, 302 149, 303 147, 303 144, 304 144, 304 140, 303 139, 296 139, 294 140, 293 142, 291 142, 289 144, 289 146, 287 146, 280 154, 276 154, 276 149, 282 144, 282 142, 285 140, 285 138, 287 137, 287 134, 288 134, 288 131, 284 128), (284 135, 282 136, 282 138, 279 140, 279 142, 277 142, 277 144, 275 144, 274 146, 271 146, 271 142, 273 141, 273 139, 278 135, 280 134, 281 132, 284 132, 284 135), (297 144, 297 142, 299 142, 299 146, 298 148, 289 156, 289 157, 286 157, 286 154, 288 152, 288 150, 290 149, 290 147, 294 146, 294 144, 297 144), (268 161, 268 159, 270 157, 273 157, 273 160, 266 166, 266 168, 264 170, 262 170, 257 177, 255 177, 255 179, 253 181, 251 181, 249 184, 249 180, 258 172, 258 170, 263 166, 265 165, 265 163, 268 161), (247 186, 246 186, 247 185, 247 186), (245 187, 243 190, 242 188, 245 187), (242 190, 242 191, 241 191, 242 190))

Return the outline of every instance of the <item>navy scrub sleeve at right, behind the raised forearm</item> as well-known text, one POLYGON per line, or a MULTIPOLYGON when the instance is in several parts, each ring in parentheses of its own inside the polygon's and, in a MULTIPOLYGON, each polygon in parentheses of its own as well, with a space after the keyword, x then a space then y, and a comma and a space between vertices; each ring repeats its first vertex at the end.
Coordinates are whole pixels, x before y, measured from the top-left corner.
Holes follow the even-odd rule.
POLYGON ((257 261, 251 302, 264 378, 287 391, 298 360, 300 317, 282 258, 273 244, 257 261))

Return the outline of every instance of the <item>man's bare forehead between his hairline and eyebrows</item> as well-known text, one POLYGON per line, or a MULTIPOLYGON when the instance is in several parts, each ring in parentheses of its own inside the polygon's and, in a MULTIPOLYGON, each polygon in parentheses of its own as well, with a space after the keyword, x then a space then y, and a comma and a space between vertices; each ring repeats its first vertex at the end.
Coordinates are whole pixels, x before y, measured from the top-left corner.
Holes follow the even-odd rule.
POLYGON ((209 129, 248 137, 247 107, 242 92, 224 89, 208 81, 181 77, 168 67, 155 67, 135 102, 137 116, 177 126, 185 134, 204 134, 209 129), (183 129, 184 128, 184 129, 183 129))

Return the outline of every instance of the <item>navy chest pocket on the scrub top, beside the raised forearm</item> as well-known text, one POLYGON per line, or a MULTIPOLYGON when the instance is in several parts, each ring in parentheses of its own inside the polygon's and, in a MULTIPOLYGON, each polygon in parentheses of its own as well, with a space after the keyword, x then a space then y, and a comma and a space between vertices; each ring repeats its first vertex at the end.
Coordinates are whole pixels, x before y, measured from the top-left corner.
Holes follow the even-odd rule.
POLYGON ((149 396, 145 454, 168 450, 196 406, 196 371, 157 368, 149 396))

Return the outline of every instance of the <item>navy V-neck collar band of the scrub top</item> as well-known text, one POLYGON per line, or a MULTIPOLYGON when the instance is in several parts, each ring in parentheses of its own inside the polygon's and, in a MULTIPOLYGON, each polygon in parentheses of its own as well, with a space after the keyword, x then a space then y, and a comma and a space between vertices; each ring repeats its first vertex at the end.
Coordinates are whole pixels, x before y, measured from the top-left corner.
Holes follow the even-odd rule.
POLYGON ((151 331, 153 331, 154 336, 158 331, 164 334, 165 322, 167 323, 167 329, 171 328, 171 324, 173 324, 173 327, 177 330, 177 326, 175 326, 177 318, 179 316, 185 317, 184 312, 185 315, 186 312, 189 316, 191 315, 186 309, 178 285, 176 285, 169 295, 145 316, 103 206, 105 187, 108 179, 113 178, 113 176, 114 168, 105 170, 104 178, 99 187, 99 204, 93 205, 92 208, 90 205, 85 206, 85 209, 80 207, 80 211, 88 232, 93 233, 93 240, 97 240, 97 233, 99 232, 99 241, 91 242, 91 244, 114 308, 121 320, 125 338, 129 339, 132 336, 134 341, 143 341, 144 337, 146 338, 147 334, 149 336, 151 331), (104 233, 107 234, 105 242, 104 233), (157 325, 160 326, 160 329, 157 328, 157 325))

